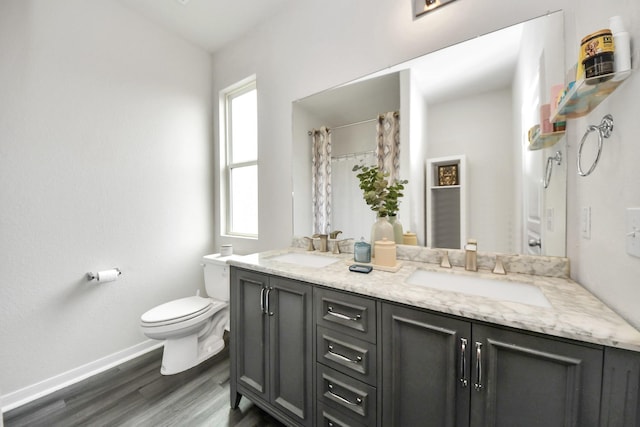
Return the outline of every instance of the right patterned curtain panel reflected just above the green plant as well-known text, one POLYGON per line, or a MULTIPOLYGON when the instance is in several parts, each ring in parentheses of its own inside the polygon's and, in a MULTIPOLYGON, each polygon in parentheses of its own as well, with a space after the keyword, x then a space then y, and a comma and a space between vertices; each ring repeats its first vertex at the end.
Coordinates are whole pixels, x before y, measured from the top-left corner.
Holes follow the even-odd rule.
POLYGON ((378 116, 378 168, 393 182, 400 179, 400 113, 391 111, 378 116))

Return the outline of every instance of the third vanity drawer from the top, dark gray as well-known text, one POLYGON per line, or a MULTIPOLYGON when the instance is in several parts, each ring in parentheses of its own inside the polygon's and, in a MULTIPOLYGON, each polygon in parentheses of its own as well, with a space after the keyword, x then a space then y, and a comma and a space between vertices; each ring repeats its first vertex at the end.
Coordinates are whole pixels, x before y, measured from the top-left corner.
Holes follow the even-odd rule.
POLYGON ((367 426, 376 425, 376 388, 320 363, 316 364, 318 402, 367 426))

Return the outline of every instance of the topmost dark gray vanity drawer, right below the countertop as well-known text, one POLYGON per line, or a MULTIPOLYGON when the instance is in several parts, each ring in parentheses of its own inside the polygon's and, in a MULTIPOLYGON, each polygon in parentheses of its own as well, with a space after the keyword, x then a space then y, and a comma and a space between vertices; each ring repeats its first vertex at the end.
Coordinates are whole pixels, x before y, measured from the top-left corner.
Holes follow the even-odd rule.
POLYGON ((328 289, 315 288, 316 323, 345 334, 376 342, 376 302, 328 289))

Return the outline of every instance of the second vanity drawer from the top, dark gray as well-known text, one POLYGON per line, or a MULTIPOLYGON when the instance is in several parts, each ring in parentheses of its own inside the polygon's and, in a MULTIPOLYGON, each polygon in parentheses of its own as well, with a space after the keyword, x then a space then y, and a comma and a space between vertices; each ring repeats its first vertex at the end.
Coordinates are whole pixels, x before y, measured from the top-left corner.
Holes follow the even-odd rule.
POLYGON ((318 326, 317 361, 364 381, 376 383, 376 346, 338 331, 318 326))

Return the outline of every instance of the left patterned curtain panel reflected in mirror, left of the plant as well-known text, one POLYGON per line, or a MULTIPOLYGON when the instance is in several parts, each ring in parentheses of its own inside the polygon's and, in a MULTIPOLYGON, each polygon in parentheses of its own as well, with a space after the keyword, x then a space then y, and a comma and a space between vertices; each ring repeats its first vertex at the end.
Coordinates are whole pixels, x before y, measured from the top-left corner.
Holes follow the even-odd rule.
POLYGON ((313 233, 331 231, 331 131, 322 126, 311 131, 313 233))

